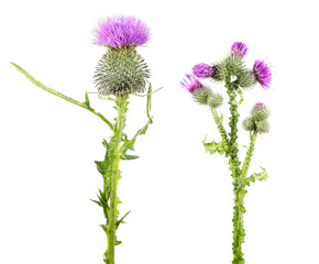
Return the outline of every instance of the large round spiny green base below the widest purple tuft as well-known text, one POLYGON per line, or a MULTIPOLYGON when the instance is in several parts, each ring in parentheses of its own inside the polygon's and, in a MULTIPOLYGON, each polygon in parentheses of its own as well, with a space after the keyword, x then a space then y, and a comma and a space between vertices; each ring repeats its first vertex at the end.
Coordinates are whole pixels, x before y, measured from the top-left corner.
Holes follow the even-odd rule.
POLYGON ((95 84, 100 95, 128 95, 145 90, 150 70, 134 48, 109 48, 100 59, 95 84))

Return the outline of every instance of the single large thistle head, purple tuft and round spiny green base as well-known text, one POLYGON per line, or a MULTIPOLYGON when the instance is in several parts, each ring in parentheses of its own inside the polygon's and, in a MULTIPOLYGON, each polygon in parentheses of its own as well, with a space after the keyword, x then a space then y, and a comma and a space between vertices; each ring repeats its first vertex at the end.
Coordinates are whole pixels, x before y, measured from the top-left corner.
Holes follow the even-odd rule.
POLYGON ((135 47, 145 44, 151 31, 134 16, 100 21, 95 44, 107 46, 100 59, 95 84, 102 96, 139 94, 145 90, 150 70, 135 47))

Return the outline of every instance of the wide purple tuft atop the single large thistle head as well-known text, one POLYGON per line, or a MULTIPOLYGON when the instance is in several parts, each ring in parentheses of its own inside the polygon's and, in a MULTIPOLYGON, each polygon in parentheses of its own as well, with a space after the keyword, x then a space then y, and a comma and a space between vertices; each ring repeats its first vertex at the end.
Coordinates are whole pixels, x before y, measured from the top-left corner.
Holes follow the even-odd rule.
POLYGON ((121 48, 140 46, 150 38, 150 29, 133 16, 114 16, 100 21, 96 30, 96 45, 121 48))

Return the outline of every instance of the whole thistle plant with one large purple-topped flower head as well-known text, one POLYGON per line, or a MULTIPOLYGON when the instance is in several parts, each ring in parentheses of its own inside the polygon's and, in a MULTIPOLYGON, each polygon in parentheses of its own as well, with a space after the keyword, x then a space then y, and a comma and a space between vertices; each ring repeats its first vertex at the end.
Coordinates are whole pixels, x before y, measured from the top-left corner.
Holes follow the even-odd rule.
POLYGON ((106 154, 101 161, 96 161, 98 172, 103 179, 103 186, 98 189, 98 199, 92 200, 102 208, 106 222, 100 224, 107 234, 108 246, 105 253, 105 263, 114 264, 116 245, 121 243, 117 238, 118 228, 124 223, 129 212, 120 217, 118 206, 118 183, 121 178, 119 164, 121 160, 135 160, 139 156, 129 154, 134 151, 134 143, 139 135, 145 134, 148 125, 153 122, 150 116, 152 86, 148 82, 150 70, 143 57, 138 53, 136 47, 145 44, 150 38, 150 29, 133 16, 114 16, 100 21, 96 30, 94 43, 105 46, 107 52, 98 63, 94 81, 100 99, 108 99, 114 102, 117 117, 114 122, 109 121, 105 116, 97 112, 90 105, 88 92, 85 94, 85 101, 80 102, 69 98, 47 86, 43 85, 26 70, 13 64, 30 81, 41 89, 81 107, 100 118, 111 130, 110 139, 103 140, 102 145, 106 154), (148 87, 146 95, 141 95, 148 87), (125 114, 128 111, 130 95, 146 96, 146 124, 132 138, 124 133, 125 114))

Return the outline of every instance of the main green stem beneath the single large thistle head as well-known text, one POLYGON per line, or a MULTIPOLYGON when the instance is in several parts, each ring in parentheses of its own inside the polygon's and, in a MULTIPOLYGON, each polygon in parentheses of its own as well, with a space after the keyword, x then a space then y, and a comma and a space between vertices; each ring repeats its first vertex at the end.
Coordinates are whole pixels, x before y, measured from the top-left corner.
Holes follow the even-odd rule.
MULTIPOLYGON (((109 168, 109 183, 105 183, 110 186, 110 210, 107 223, 107 234, 108 234, 108 249, 105 254, 105 262, 107 264, 114 264, 114 248, 117 245, 117 218, 118 218, 118 182, 120 178, 119 163, 121 160, 121 141, 123 135, 123 129, 125 125, 125 112, 128 110, 128 96, 117 96, 117 110, 118 118, 113 130, 113 135, 111 139, 111 150, 110 150, 110 168, 109 168)), ((107 191, 108 193, 108 191, 107 191)), ((105 193, 105 194, 107 194, 105 193)))

